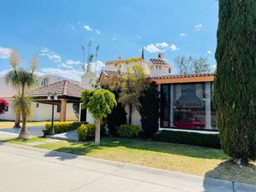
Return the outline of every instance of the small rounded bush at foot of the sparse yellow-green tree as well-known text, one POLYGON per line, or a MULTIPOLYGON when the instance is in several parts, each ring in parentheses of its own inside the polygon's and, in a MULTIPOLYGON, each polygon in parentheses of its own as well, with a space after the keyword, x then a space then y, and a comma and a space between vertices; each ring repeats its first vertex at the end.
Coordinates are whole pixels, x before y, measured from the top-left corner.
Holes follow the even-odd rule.
POLYGON ((118 128, 118 134, 120 137, 137 137, 140 132, 138 125, 120 125, 118 128))

